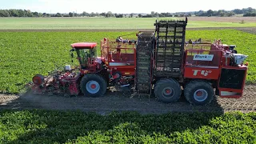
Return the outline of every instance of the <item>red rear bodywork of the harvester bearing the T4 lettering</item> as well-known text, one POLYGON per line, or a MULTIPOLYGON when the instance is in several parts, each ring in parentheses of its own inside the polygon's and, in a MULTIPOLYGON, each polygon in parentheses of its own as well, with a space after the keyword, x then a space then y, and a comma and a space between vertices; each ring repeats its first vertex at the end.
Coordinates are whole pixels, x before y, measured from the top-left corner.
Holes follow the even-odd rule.
MULTIPOLYGON (((183 62, 184 68, 182 70, 184 78, 208 79, 219 84, 222 68, 246 70, 247 72, 246 65, 229 66, 230 58, 226 58, 225 56, 225 54, 228 54, 229 52, 229 46, 222 44, 220 40, 213 44, 204 43, 190 46, 188 50, 185 50, 185 59, 183 62), (212 61, 195 61, 193 60, 193 54, 213 54, 214 58, 212 61)), ((240 90, 217 86, 219 96, 222 98, 241 98, 246 81, 246 74, 243 78, 242 88, 240 90), (230 94, 226 96, 221 94, 221 91, 235 92, 238 94, 230 94)))

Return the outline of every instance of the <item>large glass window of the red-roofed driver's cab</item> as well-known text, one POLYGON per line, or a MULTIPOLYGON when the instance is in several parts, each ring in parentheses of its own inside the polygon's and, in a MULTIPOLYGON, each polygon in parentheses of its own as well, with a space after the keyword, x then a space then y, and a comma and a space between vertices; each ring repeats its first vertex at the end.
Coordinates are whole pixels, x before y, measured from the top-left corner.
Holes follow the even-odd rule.
POLYGON ((76 50, 78 54, 78 61, 82 68, 86 68, 88 65, 88 60, 90 58, 90 49, 78 49, 76 50))

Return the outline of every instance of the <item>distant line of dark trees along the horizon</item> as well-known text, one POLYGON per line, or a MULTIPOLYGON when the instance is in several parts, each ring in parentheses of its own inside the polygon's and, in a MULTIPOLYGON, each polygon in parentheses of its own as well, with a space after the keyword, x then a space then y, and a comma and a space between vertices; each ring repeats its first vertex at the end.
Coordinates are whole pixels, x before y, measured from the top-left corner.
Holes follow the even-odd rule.
POLYGON ((30 10, 16 10, 16 9, 10 9, 10 10, 0 10, 0 17, 115 17, 115 18, 158 18, 158 17, 184 17, 184 16, 199 16, 199 17, 211 17, 211 16, 218 16, 218 17, 230 17, 234 14, 243 14, 244 17, 255 17, 256 16, 256 10, 248 7, 244 8, 242 10, 240 9, 234 9, 234 10, 199 10, 194 12, 179 12, 179 13, 158 13, 152 11, 150 14, 117 14, 112 13, 111 11, 104 12, 104 13, 87 13, 86 11, 82 12, 81 14, 77 14, 74 12, 70 12, 68 14, 47 14, 47 13, 38 13, 38 12, 31 12, 30 10))

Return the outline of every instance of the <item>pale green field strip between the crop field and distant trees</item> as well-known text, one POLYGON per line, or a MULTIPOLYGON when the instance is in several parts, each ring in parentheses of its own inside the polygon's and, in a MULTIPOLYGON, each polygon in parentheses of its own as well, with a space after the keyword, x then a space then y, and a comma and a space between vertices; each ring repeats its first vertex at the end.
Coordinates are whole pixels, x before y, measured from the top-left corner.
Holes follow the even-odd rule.
MULTIPOLYGON (((155 20, 156 18, 0 18, 0 30, 154 29, 155 20)), ((248 26, 256 26, 256 22, 199 22, 190 21, 189 18, 187 27, 248 26)))

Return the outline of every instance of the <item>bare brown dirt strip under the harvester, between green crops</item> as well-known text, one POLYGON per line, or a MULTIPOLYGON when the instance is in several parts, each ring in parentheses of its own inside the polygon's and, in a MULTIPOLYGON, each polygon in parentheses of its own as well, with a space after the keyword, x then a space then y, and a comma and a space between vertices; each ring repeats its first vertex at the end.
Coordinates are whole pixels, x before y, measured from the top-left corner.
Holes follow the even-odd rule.
POLYGON ((65 98, 61 96, 46 96, 25 94, 23 96, 1 95, 0 109, 26 110, 82 110, 95 111, 106 114, 113 110, 136 110, 142 114, 161 114, 170 111, 233 111, 242 112, 256 111, 256 86, 246 86, 244 96, 239 99, 214 98, 209 106, 190 106, 182 97, 179 102, 164 104, 154 97, 124 96, 118 92, 108 92, 102 98, 86 98, 84 96, 65 98))

